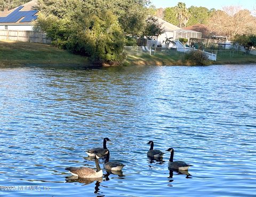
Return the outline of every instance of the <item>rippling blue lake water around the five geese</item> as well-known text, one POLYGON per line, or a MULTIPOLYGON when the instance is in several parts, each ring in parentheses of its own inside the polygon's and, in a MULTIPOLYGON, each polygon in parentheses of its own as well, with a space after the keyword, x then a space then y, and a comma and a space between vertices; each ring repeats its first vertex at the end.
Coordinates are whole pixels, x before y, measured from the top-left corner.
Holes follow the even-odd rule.
MULTIPOLYGON (((0 196, 256 196, 256 65, 0 69, 0 196), (102 146, 123 175, 90 183, 102 146), (190 175, 151 161, 175 150, 190 175), (6 191, 10 190, 10 191, 6 191)), ((102 167, 103 160, 100 160, 102 167)))

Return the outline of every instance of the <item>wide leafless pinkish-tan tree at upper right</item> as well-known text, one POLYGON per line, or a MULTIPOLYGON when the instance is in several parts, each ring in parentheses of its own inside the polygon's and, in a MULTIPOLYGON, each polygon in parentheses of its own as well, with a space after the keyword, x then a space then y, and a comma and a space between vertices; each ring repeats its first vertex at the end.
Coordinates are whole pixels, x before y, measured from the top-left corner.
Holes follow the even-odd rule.
POLYGON ((212 34, 227 36, 231 40, 236 34, 255 34, 256 18, 239 6, 223 7, 223 11, 218 10, 212 15, 208 28, 212 34))

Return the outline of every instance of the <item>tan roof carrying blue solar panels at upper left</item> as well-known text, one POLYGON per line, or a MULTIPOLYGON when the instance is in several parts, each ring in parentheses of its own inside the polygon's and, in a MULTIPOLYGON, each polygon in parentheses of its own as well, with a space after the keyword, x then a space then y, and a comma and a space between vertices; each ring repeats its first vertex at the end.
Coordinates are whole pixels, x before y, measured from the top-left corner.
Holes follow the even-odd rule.
POLYGON ((12 10, 0 12, 0 24, 27 24, 37 19, 34 7, 37 0, 15 7, 12 10))

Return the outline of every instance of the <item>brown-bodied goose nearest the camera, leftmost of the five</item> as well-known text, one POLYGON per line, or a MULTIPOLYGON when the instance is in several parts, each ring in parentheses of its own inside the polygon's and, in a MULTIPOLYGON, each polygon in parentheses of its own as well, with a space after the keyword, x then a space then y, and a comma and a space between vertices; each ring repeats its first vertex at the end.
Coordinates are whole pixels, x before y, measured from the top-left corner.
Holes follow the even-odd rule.
POLYGON ((98 154, 95 155, 95 166, 96 170, 92 168, 87 167, 69 167, 65 168, 65 170, 70 171, 70 173, 74 176, 80 177, 80 178, 98 178, 102 177, 103 173, 99 165, 99 159, 100 157, 98 154))

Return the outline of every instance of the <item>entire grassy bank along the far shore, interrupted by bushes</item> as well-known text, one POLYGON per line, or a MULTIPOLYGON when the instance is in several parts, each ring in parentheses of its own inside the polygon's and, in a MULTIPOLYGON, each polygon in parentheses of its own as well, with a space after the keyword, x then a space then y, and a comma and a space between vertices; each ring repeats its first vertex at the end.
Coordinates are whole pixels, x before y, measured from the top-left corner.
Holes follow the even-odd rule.
MULTIPOLYGON (((149 55, 140 50, 126 50, 125 65, 189 65, 183 60, 183 53, 175 50, 156 51, 149 55)), ((247 64, 256 63, 256 55, 242 53, 221 52, 217 54, 217 61, 209 64, 247 64)), ((56 47, 23 42, 0 41, 0 67, 16 65, 78 65, 89 67, 89 61, 79 55, 73 55, 56 47)))

